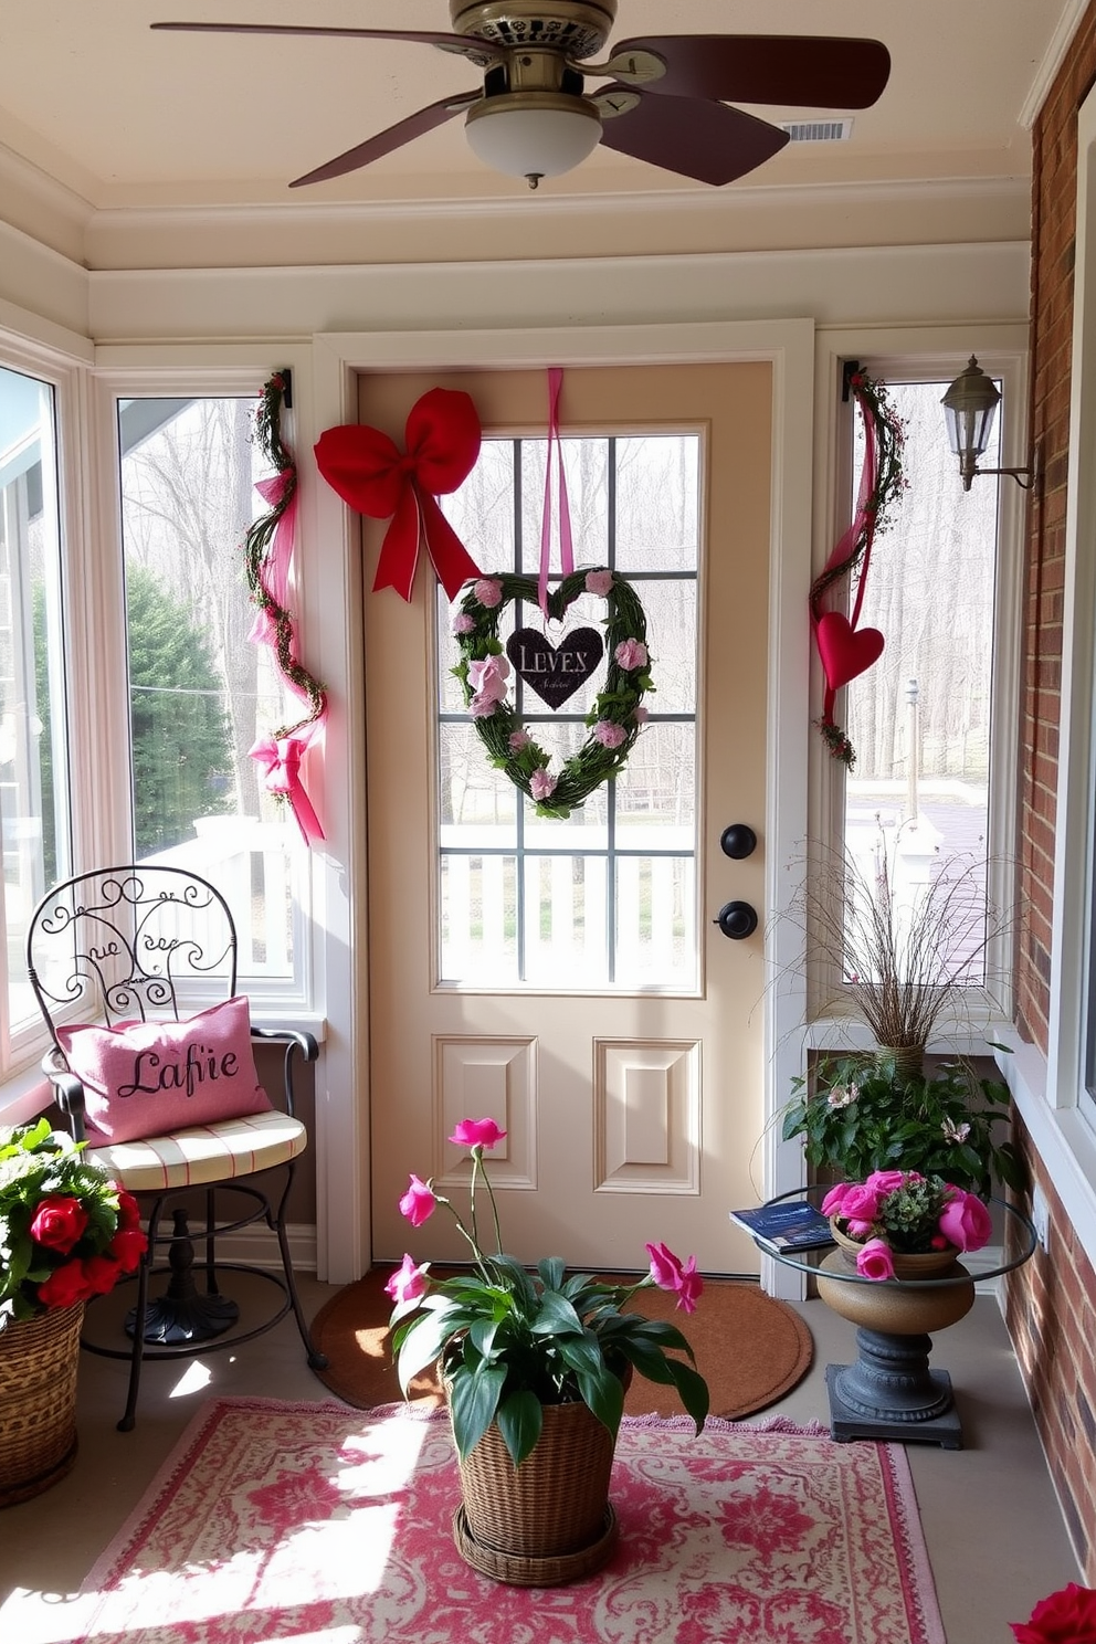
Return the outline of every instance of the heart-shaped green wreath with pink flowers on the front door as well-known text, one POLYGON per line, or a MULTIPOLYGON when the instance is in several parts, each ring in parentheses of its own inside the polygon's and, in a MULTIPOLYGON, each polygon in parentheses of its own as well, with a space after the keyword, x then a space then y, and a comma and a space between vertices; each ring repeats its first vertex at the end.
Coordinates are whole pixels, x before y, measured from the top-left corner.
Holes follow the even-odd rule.
MULTIPOLYGON (((500 620, 513 600, 537 603, 536 579, 506 572, 480 577, 478 582, 467 585, 460 612, 454 620, 454 633, 460 644, 460 663, 454 667, 454 674, 463 686, 465 704, 472 712, 480 741, 486 748, 491 764, 506 771, 514 787, 532 799, 536 814, 541 817, 562 819, 570 815, 601 783, 616 776, 647 717, 647 710, 642 707, 644 692, 654 690, 649 674, 647 623, 633 585, 619 572, 608 570, 605 566, 575 570, 549 593, 549 620, 562 621, 569 607, 582 593, 593 593, 608 605, 605 616, 608 671, 605 686, 587 715, 587 725, 592 727, 590 735, 559 773, 549 769, 550 755, 532 740, 521 715, 506 702, 509 661, 498 638, 500 620)), ((564 700, 570 690, 541 689, 531 677, 532 667, 527 671, 519 659, 523 640, 526 646, 539 640, 542 649, 537 653, 537 661, 546 674, 554 672, 557 663, 573 654, 577 658, 575 689, 583 684, 583 672, 595 661, 600 661, 590 644, 600 636, 592 628, 582 628, 569 636, 570 641, 580 641, 573 653, 567 653, 564 643, 557 648, 531 630, 519 630, 511 638, 511 648, 514 641, 519 641, 518 648, 511 649, 514 666, 552 705, 564 700)))

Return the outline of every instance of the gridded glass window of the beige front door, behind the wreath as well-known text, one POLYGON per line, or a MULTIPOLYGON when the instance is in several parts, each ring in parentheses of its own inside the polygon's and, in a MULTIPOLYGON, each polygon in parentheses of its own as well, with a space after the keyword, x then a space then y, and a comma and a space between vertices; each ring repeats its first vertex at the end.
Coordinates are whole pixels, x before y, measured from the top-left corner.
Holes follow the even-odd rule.
MULTIPOLYGON (((455 687, 452 608, 439 593, 439 980, 463 986, 605 991, 695 991, 697 945, 697 567, 700 439, 569 437, 564 442, 575 564, 608 564, 634 584, 647 621, 656 690, 619 778, 598 787, 565 820, 534 806, 495 771, 455 687)), ((536 577, 541 559, 546 441, 485 441, 483 473, 470 477, 445 513, 477 544, 485 572, 536 577), (477 508, 490 513, 491 557, 477 508)), ((575 628, 596 628, 605 602, 582 595, 554 646, 575 628)), ((544 633, 536 598, 503 613, 514 628, 544 633)), ((550 769, 575 755, 598 690, 596 676, 559 710, 514 671, 509 700, 550 769)))

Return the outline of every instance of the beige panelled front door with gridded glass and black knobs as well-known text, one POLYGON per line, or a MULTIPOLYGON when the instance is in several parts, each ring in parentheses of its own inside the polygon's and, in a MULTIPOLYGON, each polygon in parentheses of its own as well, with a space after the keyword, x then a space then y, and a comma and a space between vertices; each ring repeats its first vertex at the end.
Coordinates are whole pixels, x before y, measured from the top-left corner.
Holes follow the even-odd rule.
MULTIPOLYGON (((485 444, 445 513, 485 575, 536 580, 547 388, 542 372, 365 376, 360 419, 403 449, 427 388, 472 395, 485 444)), ((449 607, 429 566, 412 603, 365 602, 373 1253, 462 1259, 444 1212, 398 1212, 411 1172, 467 1205, 447 1141, 491 1116, 503 1245, 534 1261, 644 1268, 644 1243, 702 1271, 756 1271, 728 1210, 758 1198, 771 367, 569 368, 564 455, 578 566, 608 566, 642 603, 654 692, 619 778, 544 819, 491 768, 450 669, 449 607), (721 848, 751 825, 746 860, 721 848)), ((366 585, 385 526, 366 521, 366 585)), ((557 561, 554 561, 557 569, 557 561)), ((598 626, 585 597, 544 621, 564 651, 598 626)), ((529 648, 529 674, 536 671, 529 648)), ((549 654, 547 651, 544 654, 549 654)), ((582 748, 596 681, 549 705, 511 699, 552 766, 582 748)))

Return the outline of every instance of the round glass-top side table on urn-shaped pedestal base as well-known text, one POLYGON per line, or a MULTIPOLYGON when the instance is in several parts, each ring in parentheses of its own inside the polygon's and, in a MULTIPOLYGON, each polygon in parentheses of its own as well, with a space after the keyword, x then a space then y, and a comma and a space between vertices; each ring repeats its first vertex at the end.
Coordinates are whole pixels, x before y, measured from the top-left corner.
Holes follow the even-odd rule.
MULTIPOLYGON (((825 1187, 792 1189, 767 1200, 823 1195, 825 1187)), ((999 1279, 1022 1268, 1038 1238, 1032 1221, 1004 1198, 992 1198, 1022 1233, 1020 1254, 973 1276, 960 1261, 946 1272, 922 1279, 866 1279, 836 1245, 823 1249, 776 1251, 759 1245, 785 1268, 810 1274, 820 1299, 856 1325, 858 1358, 827 1365, 830 1432, 838 1440, 877 1438, 899 1443, 938 1443, 963 1448, 963 1429, 946 1369, 930 1369, 930 1330, 956 1323, 974 1304, 974 1279, 999 1279)))

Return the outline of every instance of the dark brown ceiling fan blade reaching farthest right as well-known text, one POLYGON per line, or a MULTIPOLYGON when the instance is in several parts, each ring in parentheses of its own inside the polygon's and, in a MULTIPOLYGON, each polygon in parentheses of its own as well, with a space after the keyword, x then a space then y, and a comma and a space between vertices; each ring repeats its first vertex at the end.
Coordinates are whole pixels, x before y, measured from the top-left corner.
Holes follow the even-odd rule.
POLYGON ((649 35, 613 46, 615 74, 633 51, 665 62, 662 79, 644 81, 644 90, 716 102, 869 109, 891 76, 881 41, 827 35, 649 35))

